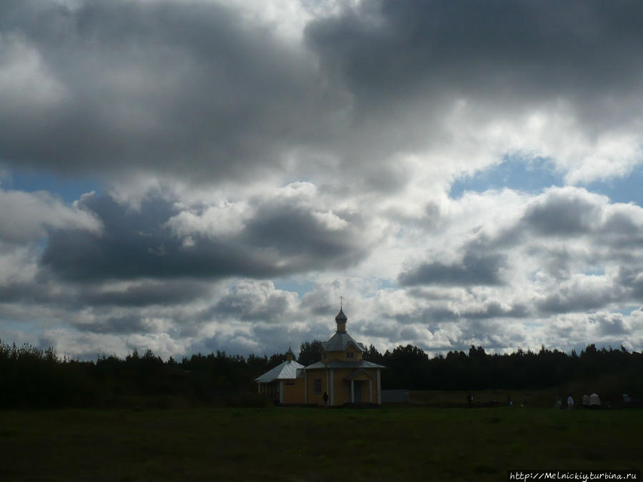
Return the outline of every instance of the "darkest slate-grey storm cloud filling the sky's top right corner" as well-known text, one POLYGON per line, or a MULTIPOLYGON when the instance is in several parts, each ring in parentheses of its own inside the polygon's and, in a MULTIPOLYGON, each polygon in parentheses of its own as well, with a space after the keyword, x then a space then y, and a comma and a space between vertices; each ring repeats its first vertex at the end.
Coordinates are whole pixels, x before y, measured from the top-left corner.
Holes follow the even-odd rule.
POLYGON ((643 6, 602 1, 363 2, 311 24, 311 48, 364 109, 444 89, 525 101, 638 91, 643 6))

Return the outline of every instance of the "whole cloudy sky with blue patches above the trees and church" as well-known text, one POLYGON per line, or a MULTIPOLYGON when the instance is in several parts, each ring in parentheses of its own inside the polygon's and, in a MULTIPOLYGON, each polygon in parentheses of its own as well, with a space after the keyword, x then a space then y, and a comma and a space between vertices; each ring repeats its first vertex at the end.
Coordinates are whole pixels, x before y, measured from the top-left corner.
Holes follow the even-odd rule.
POLYGON ((0 339, 643 348, 643 4, 0 2, 0 339))

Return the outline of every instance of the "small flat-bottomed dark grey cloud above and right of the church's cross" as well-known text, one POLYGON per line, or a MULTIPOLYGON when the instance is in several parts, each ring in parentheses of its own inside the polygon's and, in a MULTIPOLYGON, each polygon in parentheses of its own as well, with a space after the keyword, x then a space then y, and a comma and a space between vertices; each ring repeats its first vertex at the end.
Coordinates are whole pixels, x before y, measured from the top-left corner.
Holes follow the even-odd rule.
POLYGON ((400 273, 402 286, 442 284, 451 286, 499 285, 500 270, 506 265, 502 254, 467 252, 462 263, 444 264, 439 261, 423 263, 400 273))

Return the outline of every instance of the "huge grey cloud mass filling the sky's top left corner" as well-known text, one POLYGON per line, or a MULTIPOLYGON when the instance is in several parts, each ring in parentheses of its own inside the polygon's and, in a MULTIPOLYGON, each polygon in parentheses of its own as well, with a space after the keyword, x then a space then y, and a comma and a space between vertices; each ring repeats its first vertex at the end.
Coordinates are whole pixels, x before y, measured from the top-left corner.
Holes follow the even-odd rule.
POLYGON ((16 165, 241 176, 308 135, 311 64, 224 6, 3 2, 0 32, 5 62, 21 65, 12 46, 39 55, 34 86, 51 87, 0 93, 0 154, 16 165))

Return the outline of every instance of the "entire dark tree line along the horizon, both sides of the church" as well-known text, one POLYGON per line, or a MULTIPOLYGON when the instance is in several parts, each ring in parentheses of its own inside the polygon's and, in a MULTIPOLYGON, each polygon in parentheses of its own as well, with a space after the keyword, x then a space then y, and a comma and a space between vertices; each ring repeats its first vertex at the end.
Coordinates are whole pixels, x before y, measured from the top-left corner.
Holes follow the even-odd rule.
MULTIPOLYGON (((321 342, 301 343, 298 361, 321 359, 321 342)), ((558 350, 489 354, 481 346, 430 357, 417 346, 380 353, 369 346, 364 359, 386 366, 382 387, 411 390, 537 389, 574 380, 612 377, 618 393, 643 391, 643 354, 589 345, 580 353, 558 350)), ((272 356, 197 353, 164 361, 151 350, 96 361, 59 357, 53 348, 0 341, 0 407, 261 405, 254 378, 286 360, 272 356)))

